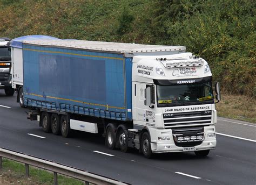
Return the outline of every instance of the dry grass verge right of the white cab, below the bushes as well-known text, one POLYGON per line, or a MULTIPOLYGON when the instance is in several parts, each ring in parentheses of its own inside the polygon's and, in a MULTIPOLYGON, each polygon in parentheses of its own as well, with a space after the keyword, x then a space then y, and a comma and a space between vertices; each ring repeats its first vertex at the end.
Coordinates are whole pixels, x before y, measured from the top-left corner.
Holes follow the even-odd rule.
POLYGON ((221 101, 215 104, 217 115, 226 118, 256 123, 256 99, 244 95, 221 94, 221 101))

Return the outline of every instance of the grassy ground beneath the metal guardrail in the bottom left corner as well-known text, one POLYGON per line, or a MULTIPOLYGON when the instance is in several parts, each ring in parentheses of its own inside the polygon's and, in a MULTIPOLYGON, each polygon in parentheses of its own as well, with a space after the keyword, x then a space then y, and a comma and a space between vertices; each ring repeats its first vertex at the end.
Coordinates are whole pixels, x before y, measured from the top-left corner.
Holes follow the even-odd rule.
MULTIPOLYGON (((16 161, 3 159, 3 168, 0 170, 1 185, 50 185, 53 184, 53 173, 29 166, 29 177, 25 176, 25 165, 16 161)), ((58 184, 82 185, 84 182, 58 175, 58 184)))

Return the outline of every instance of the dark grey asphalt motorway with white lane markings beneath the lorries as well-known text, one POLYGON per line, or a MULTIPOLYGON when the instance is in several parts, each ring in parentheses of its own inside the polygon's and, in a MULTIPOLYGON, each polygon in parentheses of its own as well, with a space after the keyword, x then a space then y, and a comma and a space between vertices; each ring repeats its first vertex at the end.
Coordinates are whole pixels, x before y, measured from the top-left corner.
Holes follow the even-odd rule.
POLYGON ((256 124, 218 118, 217 148, 206 158, 188 152, 145 159, 135 150, 107 149, 98 134, 76 132, 74 138, 63 138, 44 133, 38 122, 26 119, 25 111, 16 95, 6 97, 0 90, 0 147, 131 184, 256 184, 256 124))

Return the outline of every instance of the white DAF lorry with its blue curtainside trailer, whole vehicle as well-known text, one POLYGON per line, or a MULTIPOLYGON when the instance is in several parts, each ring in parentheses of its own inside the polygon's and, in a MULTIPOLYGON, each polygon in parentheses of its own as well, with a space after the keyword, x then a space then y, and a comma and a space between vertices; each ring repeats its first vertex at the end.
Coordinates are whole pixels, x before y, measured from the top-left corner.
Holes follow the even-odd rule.
POLYGON ((44 132, 102 133, 107 147, 146 158, 216 146, 211 70, 183 46, 25 40, 23 72, 28 119, 44 132))

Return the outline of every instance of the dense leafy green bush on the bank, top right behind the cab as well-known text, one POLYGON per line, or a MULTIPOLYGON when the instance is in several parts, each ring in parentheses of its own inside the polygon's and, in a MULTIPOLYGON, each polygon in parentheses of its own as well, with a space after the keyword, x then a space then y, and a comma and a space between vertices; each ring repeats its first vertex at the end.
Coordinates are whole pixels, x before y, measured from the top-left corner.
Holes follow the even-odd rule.
POLYGON ((167 23, 166 44, 185 45, 206 59, 214 80, 230 93, 253 95, 254 12, 254 1, 183 1, 180 18, 167 23))

